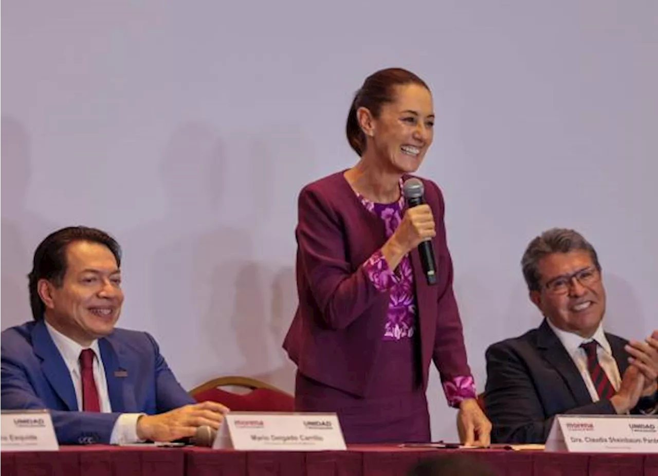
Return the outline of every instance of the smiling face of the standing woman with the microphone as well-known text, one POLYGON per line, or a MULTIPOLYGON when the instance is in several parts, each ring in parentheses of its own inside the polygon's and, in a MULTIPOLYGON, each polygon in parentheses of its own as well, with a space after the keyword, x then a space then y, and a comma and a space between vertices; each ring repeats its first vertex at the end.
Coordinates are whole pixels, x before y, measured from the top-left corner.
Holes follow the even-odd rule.
POLYGON ((370 137, 368 149, 384 161, 387 169, 398 173, 417 171, 434 138, 432 93, 419 84, 393 88, 394 100, 384 103, 379 117, 359 111, 359 122, 370 137))

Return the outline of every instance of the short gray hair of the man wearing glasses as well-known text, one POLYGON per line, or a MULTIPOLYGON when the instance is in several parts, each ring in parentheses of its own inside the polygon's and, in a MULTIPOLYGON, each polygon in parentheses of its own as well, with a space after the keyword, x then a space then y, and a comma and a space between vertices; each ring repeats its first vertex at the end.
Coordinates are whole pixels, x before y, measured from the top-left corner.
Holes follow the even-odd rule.
POLYGON ((569 251, 577 250, 590 253, 596 269, 601 271, 599 257, 596 255, 594 246, 576 230, 551 228, 540 234, 540 236, 536 236, 528 244, 528 248, 526 248, 521 258, 521 269, 528 290, 538 291, 540 289, 539 281, 541 277, 538 264, 543 257, 553 253, 569 253, 569 251))

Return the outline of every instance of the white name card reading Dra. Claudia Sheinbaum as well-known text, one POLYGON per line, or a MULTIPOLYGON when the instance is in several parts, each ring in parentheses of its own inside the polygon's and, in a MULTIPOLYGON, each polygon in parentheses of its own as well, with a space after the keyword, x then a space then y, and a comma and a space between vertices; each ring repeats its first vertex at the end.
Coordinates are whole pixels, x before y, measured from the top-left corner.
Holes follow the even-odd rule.
POLYGON ((653 415, 557 415, 546 451, 658 453, 653 415))

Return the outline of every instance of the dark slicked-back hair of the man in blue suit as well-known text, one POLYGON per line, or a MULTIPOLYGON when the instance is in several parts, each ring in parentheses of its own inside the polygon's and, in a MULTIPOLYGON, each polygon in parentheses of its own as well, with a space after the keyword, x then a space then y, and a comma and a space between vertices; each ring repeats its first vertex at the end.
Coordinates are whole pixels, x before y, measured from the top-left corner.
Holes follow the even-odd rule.
POLYGON ((66 275, 66 249, 74 242, 90 242, 107 246, 116 259, 116 265, 121 266, 121 247, 103 230, 88 226, 68 226, 49 234, 34 251, 32 271, 28 275, 30 307, 32 307, 32 318, 35 321, 43 319, 45 311, 37 284, 40 279, 47 279, 57 287, 62 285, 64 275, 66 275))

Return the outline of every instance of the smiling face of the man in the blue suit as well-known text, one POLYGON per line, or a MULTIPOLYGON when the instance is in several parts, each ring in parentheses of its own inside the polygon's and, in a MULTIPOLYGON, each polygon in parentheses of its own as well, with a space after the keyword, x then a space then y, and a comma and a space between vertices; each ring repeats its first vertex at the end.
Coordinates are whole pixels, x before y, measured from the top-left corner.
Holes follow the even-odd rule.
POLYGON ((114 331, 124 300, 121 273, 112 251, 87 241, 66 247, 66 273, 61 285, 41 279, 38 292, 47 323, 84 347, 114 331))

